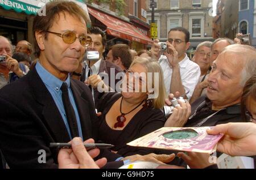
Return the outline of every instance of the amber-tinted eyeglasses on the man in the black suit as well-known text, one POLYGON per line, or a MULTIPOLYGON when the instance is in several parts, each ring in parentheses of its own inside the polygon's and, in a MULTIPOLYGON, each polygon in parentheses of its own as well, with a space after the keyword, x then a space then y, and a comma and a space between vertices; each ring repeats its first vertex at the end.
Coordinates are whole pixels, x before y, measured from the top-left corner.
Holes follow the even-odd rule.
POLYGON ((51 31, 47 31, 48 33, 53 33, 57 36, 60 36, 62 37, 63 41, 67 44, 72 44, 76 41, 76 39, 78 38, 81 45, 86 47, 86 46, 89 46, 90 43, 92 42, 92 38, 90 36, 79 36, 79 37, 76 37, 76 33, 75 32, 72 32, 72 31, 67 31, 67 32, 64 32, 63 34, 61 33, 56 33, 56 32, 51 32, 51 31))

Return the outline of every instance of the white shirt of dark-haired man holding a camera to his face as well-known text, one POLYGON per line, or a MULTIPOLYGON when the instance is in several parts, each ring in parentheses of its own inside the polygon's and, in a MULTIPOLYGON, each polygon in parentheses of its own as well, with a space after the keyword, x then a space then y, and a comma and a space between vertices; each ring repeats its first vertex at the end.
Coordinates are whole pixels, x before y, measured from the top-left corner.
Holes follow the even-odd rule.
MULTIPOLYGON (((159 64, 163 70, 164 84, 166 86, 167 95, 169 95, 172 79, 172 68, 170 67, 170 63, 165 55, 161 55, 159 64)), ((185 58, 179 62, 179 66, 181 83, 185 89, 185 93, 187 93, 187 97, 190 99, 201 75, 200 67, 195 62, 190 61, 187 54, 185 55, 185 58)))

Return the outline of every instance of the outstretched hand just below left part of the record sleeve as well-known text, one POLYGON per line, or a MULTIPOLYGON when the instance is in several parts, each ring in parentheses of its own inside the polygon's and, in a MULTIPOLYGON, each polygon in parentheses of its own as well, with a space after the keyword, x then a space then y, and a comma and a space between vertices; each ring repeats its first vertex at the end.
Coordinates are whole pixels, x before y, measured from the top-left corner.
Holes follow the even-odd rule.
POLYGON ((157 164, 166 164, 168 162, 171 162, 172 160, 174 160, 175 158, 175 154, 171 154, 171 155, 156 155, 154 153, 150 153, 149 155, 133 155, 133 156, 127 156, 125 158, 123 158, 122 160, 130 160, 131 162, 134 161, 147 161, 147 162, 155 162, 157 164))

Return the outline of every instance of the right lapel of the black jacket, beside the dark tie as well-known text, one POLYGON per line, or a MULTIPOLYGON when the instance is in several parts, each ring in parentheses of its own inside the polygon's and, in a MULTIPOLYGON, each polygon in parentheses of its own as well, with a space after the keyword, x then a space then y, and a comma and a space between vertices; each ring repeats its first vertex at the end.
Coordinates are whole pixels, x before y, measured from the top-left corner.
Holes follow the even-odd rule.
POLYGON ((92 123, 90 121, 89 102, 86 100, 85 92, 71 79, 71 90, 75 98, 76 107, 79 112, 82 136, 84 140, 92 138, 92 123))

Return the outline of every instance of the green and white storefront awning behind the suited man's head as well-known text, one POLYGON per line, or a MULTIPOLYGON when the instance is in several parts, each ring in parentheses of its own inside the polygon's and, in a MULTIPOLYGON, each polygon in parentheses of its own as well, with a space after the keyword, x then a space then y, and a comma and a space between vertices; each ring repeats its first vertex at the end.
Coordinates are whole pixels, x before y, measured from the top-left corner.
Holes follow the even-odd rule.
MULTIPOLYGON (((84 10, 86 10, 86 5, 82 2, 82 0, 71 1, 76 2, 84 10)), ((38 10, 47 2, 49 2, 49 0, 0 0, 0 6, 5 10, 14 10, 16 12, 24 12, 28 15, 36 15, 38 10)))

